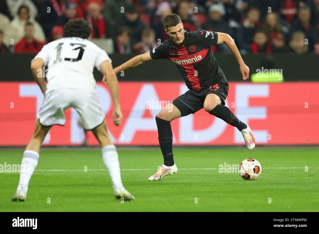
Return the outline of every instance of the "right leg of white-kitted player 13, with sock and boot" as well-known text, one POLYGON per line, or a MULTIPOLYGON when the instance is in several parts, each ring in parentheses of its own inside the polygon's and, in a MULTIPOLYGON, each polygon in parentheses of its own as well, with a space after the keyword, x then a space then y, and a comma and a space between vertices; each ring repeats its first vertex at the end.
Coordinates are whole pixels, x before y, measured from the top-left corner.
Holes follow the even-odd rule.
POLYGON ((102 124, 95 127, 92 130, 94 136, 99 141, 100 146, 102 148, 102 157, 105 166, 108 169, 108 173, 112 179, 114 196, 117 199, 132 201, 135 197, 130 194, 122 184, 121 180, 121 171, 120 171, 120 163, 118 160, 118 154, 115 146, 113 145, 110 135, 108 134, 108 128, 106 127, 105 120, 102 124))

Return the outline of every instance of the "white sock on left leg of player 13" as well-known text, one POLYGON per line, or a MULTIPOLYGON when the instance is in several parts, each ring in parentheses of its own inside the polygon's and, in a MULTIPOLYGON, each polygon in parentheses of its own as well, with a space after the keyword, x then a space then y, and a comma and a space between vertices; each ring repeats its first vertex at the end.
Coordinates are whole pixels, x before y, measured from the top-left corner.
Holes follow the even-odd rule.
POLYGON ((21 162, 20 180, 17 190, 28 191, 29 181, 38 165, 39 154, 33 150, 25 150, 21 162))

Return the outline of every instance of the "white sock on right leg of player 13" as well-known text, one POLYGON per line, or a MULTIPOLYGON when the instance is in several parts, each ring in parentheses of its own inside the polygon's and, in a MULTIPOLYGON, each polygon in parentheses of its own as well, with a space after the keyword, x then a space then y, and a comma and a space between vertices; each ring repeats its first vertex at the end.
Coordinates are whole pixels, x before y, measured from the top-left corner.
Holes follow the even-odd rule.
POLYGON ((120 162, 114 145, 107 145, 102 148, 102 157, 108 173, 111 176, 113 188, 122 188, 120 162))

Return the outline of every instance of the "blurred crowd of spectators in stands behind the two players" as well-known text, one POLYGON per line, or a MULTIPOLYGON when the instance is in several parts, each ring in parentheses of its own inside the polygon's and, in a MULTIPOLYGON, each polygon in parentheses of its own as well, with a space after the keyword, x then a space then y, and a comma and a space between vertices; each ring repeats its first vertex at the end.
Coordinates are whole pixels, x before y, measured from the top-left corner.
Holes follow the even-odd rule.
MULTIPOLYGON (((63 37, 68 20, 85 18, 115 53, 144 53, 169 39, 169 13, 184 31, 228 33, 241 53, 319 54, 319 0, 0 0, 0 52, 37 53, 63 37)), ((224 44, 211 50, 230 53, 224 44)))

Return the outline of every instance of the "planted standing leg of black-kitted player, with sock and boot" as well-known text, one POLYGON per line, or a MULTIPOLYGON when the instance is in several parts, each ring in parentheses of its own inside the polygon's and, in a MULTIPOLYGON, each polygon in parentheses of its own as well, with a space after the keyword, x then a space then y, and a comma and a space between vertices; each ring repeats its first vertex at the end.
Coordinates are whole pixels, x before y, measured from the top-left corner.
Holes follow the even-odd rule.
POLYGON ((164 176, 173 175, 173 173, 176 174, 178 170, 173 158, 173 133, 170 122, 179 117, 181 117, 181 112, 172 103, 167 104, 167 106, 156 115, 159 146, 162 150, 164 163, 154 175, 148 178, 149 181, 157 181, 164 176))

